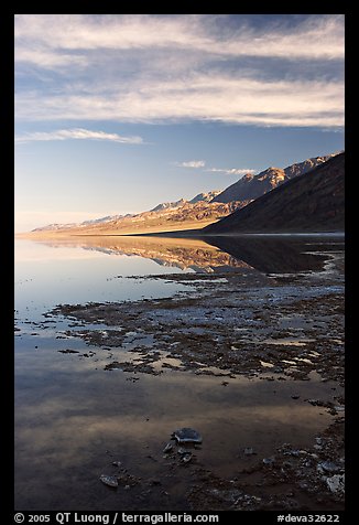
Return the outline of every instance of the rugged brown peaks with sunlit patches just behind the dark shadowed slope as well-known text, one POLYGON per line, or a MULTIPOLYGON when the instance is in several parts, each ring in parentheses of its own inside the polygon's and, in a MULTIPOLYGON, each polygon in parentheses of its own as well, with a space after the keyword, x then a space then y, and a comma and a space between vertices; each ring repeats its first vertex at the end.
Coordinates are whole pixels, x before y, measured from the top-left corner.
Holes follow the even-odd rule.
POLYGON ((304 162, 292 164, 284 169, 271 167, 258 175, 247 173, 238 182, 235 182, 235 184, 231 184, 217 195, 211 202, 253 201, 290 179, 303 175, 316 165, 326 162, 334 157, 334 154, 307 159, 304 162))

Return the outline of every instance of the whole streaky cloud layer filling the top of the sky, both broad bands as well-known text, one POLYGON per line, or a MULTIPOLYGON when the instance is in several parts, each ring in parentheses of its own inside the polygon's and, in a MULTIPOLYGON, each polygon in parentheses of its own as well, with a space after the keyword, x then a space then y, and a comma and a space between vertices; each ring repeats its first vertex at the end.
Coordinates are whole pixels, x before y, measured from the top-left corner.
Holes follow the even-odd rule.
POLYGON ((336 129, 344 49, 339 14, 264 26, 214 14, 21 14, 17 118, 336 129))

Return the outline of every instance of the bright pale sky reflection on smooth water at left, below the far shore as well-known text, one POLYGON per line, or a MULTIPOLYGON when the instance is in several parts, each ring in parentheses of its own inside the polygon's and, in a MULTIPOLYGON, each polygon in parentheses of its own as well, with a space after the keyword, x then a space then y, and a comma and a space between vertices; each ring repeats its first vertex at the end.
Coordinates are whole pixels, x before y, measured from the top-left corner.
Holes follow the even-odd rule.
POLYGON ((85 250, 77 245, 56 248, 28 240, 19 240, 18 249, 15 308, 26 317, 39 317, 58 303, 168 297, 184 289, 181 283, 128 279, 171 272, 171 269, 140 256, 112 257, 96 249, 85 250), (30 259, 26 259, 26 253, 32 254, 30 259))

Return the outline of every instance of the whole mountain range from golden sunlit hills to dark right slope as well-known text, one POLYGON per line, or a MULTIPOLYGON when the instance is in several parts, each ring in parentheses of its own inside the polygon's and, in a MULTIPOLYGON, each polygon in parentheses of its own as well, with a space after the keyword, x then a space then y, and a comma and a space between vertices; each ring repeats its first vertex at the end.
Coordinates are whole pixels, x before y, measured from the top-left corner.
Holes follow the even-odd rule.
MULTIPOLYGON (((342 156, 344 173, 344 153, 340 154, 342 156)), ((325 157, 311 158, 284 169, 270 167, 257 175, 247 173, 238 182, 231 184, 224 191, 216 190, 207 193, 199 193, 189 201, 180 199, 175 202, 160 203, 148 212, 127 215, 108 215, 93 221, 85 221, 83 223, 51 224, 35 228, 31 234, 40 236, 54 234, 58 236, 62 234, 106 235, 117 233, 121 235, 205 228, 203 231, 205 234, 217 235, 227 228, 230 228, 232 232, 244 231, 246 228, 250 228, 251 231, 268 231, 268 228, 278 229, 280 228, 278 223, 281 223, 284 228, 290 227, 293 231, 293 228, 295 229, 296 227, 293 217, 291 219, 287 218, 286 222, 283 221, 284 216, 287 215, 286 213, 286 215, 284 214, 283 216, 283 210, 285 208, 284 211, 286 212, 289 210, 287 200, 290 199, 291 193, 293 191, 296 194, 300 194, 301 192, 303 193, 302 206, 296 201, 295 210, 297 210, 297 214, 305 215, 306 212, 304 208, 308 195, 314 193, 314 196, 311 199, 312 202, 316 199, 315 193, 317 191, 324 191, 320 184, 318 188, 315 186, 314 182, 311 180, 313 178, 312 175, 316 170, 319 170, 323 167, 333 165, 330 162, 340 157, 340 154, 333 153, 325 157), (290 184, 296 180, 304 180, 304 182, 294 186, 290 184), (282 193, 274 194, 276 195, 275 205, 271 200, 271 205, 268 204, 266 199, 263 201, 265 195, 272 195, 274 191, 287 186, 290 190, 285 190, 283 194, 284 196, 281 196, 282 193), (286 201, 281 203, 281 200, 286 201), (255 207, 253 207, 254 204, 255 207), (262 206, 264 205, 266 211, 262 211, 262 206), (254 213, 258 214, 257 223, 253 222, 254 213), (268 215, 269 213, 270 215, 268 215), (266 215, 264 216, 263 214, 266 215), (276 217, 274 217, 273 214, 276 214, 276 217), (228 221, 226 221, 227 218, 228 221)), ((319 171, 319 173, 322 172, 319 171)), ((316 181, 317 176, 314 179, 316 181)), ((337 181, 337 184, 339 184, 339 181, 337 181)), ((339 186, 337 186, 337 190, 339 186)), ((330 192, 330 190, 328 190, 327 193, 328 192, 330 192)), ((337 202, 340 195, 344 196, 344 184, 342 191, 337 191, 337 196, 334 200, 337 202)), ((329 196, 327 195, 326 201, 329 205, 330 200, 328 199, 329 196)), ((331 202, 331 205, 336 206, 334 202, 331 202)), ((291 207, 293 208, 293 205, 291 207)), ((313 203, 312 208, 316 210, 316 206, 314 206, 313 203)), ((323 211, 320 206, 319 208, 323 211)), ((327 211, 327 213, 329 213, 329 211, 327 211)), ((309 216, 312 219, 315 218, 313 214, 309 214, 308 217, 309 216)), ((320 226, 322 228, 325 228, 325 216, 320 218, 320 224, 323 223, 320 226)), ((336 221, 338 225, 339 223, 341 225, 338 213, 336 214, 336 221)), ((303 227, 311 228, 309 225, 305 226, 304 224, 303 227)))

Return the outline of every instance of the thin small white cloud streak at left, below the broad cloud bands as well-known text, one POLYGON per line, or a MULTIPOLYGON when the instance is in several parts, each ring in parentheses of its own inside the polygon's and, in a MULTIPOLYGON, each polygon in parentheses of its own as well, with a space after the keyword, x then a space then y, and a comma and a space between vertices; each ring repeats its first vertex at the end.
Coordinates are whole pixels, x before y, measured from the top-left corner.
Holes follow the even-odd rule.
POLYGON ((142 143, 141 137, 122 137, 118 133, 107 133, 105 131, 91 131, 84 128, 75 129, 58 129, 56 131, 36 131, 32 133, 25 133, 20 137, 15 137, 15 142, 33 142, 33 141, 47 141, 47 140, 108 140, 110 142, 120 142, 128 144, 142 143))

